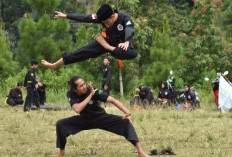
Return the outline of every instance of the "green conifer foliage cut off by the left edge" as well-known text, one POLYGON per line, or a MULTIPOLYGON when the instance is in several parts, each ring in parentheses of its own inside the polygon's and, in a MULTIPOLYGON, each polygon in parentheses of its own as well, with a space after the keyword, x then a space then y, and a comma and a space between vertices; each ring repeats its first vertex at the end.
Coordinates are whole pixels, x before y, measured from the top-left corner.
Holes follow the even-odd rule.
POLYGON ((0 30, 0 79, 7 78, 18 70, 18 64, 12 59, 9 38, 3 30, 0 30))

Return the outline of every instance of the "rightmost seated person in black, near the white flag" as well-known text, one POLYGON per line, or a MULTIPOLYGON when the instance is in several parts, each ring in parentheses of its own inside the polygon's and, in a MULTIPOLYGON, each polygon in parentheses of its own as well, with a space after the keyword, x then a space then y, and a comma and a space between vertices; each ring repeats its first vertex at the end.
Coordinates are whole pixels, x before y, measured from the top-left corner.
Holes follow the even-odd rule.
POLYGON ((191 91, 188 83, 184 84, 184 90, 184 108, 190 111, 196 104, 196 94, 191 91))

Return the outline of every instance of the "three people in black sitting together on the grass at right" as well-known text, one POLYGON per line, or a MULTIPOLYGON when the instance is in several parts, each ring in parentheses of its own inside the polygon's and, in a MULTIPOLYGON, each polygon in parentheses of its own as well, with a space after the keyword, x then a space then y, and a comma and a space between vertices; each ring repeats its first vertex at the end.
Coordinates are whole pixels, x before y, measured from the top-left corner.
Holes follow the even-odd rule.
POLYGON ((133 99, 130 100, 130 104, 137 104, 139 106, 147 107, 153 105, 163 105, 164 107, 170 104, 182 104, 182 108, 186 110, 191 110, 196 106, 197 98, 196 93, 191 90, 188 83, 184 84, 184 95, 183 100, 179 100, 178 94, 180 92, 175 90, 175 81, 168 85, 168 81, 162 81, 161 89, 158 92, 157 98, 154 98, 153 91, 147 86, 140 86, 135 90, 136 94, 133 99))

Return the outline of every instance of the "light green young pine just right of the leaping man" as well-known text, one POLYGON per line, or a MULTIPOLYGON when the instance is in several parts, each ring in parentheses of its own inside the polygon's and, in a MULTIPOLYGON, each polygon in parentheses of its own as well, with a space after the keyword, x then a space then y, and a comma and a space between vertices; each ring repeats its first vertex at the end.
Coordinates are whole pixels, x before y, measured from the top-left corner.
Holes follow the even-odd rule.
POLYGON ((176 42, 174 37, 170 37, 170 28, 167 18, 163 20, 163 31, 155 30, 150 48, 151 58, 149 66, 143 77, 145 85, 156 87, 161 81, 165 81, 169 71, 175 69, 181 61, 183 49, 176 42))

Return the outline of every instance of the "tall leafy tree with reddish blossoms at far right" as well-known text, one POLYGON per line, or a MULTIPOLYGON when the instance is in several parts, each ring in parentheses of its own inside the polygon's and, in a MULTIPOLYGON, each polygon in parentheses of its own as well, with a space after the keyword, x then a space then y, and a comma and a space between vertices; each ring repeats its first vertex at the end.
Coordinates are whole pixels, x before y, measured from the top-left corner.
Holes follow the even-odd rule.
POLYGON ((226 50, 223 33, 215 25, 217 6, 220 4, 211 0, 197 1, 192 11, 194 29, 187 38, 190 43, 179 70, 180 76, 190 83, 201 82, 199 76, 203 71, 225 71, 230 67, 231 55, 226 50))

